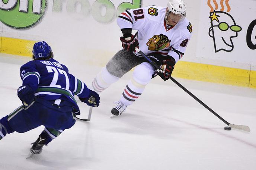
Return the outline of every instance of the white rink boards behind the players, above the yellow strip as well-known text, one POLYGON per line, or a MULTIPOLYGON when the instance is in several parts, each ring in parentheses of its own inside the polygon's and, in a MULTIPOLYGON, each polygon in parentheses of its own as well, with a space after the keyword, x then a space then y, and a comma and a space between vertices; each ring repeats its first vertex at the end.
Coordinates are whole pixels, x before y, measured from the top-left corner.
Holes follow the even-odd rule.
MULTIPOLYGON (((135 3, 141 2, 142 7, 152 4, 166 6, 167 4, 166 0, 101 0, 97 2, 102 2, 103 6, 96 5, 95 0, 49 0, 44 17, 39 23, 27 29, 13 29, 3 25, 2 36, 36 41, 45 40, 58 55, 69 54, 69 56, 75 56, 78 61, 85 60, 95 65, 105 65, 113 54, 121 49, 119 37, 122 33, 116 24, 116 13, 121 4, 134 3, 133 5, 136 6, 135 3)), ((210 4, 216 11, 221 11, 220 0, 216 2, 218 8, 213 0, 210 4)), ((186 0, 185 3, 187 18, 193 25, 193 36, 183 61, 248 70, 256 65, 256 50, 250 49, 246 43, 248 26, 256 19, 256 1, 245 0, 241 4, 240 0, 232 0, 223 3, 223 12, 227 12, 228 4, 230 11, 227 13, 242 28, 237 37, 232 38, 234 48, 231 52, 214 51, 213 38, 208 35, 211 23, 210 7, 207 1, 186 0)), ((217 30, 215 30, 215 35, 217 40, 217 30)), ((256 26, 252 30, 253 44, 256 44, 255 35, 256 26)), ((217 46, 221 47, 221 42, 218 42, 217 46)), ((70 60, 69 58, 63 59, 70 60)))

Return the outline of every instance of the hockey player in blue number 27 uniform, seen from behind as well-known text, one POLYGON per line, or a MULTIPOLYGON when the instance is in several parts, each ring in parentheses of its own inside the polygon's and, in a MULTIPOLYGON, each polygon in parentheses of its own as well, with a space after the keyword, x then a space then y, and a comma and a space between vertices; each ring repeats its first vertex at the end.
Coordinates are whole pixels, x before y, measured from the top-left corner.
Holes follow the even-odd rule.
POLYGON ((22 86, 17 95, 23 105, 1 118, 0 140, 6 134, 44 125, 31 154, 40 154, 44 145, 75 124, 80 111, 74 95, 89 106, 99 106, 99 95, 53 59, 51 47, 44 41, 33 46, 33 61, 21 66, 20 78, 22 86))

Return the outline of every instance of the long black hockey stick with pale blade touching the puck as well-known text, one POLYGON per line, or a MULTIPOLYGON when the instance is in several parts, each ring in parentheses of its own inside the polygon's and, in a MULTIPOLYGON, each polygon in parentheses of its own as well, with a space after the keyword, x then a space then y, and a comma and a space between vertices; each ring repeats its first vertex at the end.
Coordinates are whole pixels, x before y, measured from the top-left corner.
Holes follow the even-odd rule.
MULTIPOLYGON (((163 71, 163 69, 161 69, 161 67, 159 65, 157 65, 154 61, 152 61, 150 58, 148 58, 147 55, 145 55, 140 49, 135 48, 135 50, 140 53, 145 59, 147 59, 147 61, 154 66, 156 69, 159 69, 160 71, 163 71)), ((235 129, 240 129, 240 130, 244 130, 247 132, 250 132, 250 128, 246 125, 235 125, 235 124, 230 124, 229 122, 227 122, 226 120, 224 120, 222 117, 220 117, 220 115, 218 115, 215 111, 213 111, 211 108, 209 108, 206 104, 204 104, 204 102, 202 102, 200 99, 198 99, 195 95, 193 95, 190 91, 188 91, 188 89, 186 89, 184 86, 182 86, 179 82, 177 82, 174 78, 172 78, 172 76, 169 76, 169 79, 171 79, 176 85, 178 85, 180 88, 182 88, 185 92, 187 92, 191 97, 193 97, 196 101, 198 101, 201 105, 203 105, 205 108, 207 108, 210 112, 212 112, 212 114, 214 114, 215 116, 217 116, 221 121, 223 121, 225 124, 227 124, 228 126, 230 126, 231 128, 235 128, 235 129)))

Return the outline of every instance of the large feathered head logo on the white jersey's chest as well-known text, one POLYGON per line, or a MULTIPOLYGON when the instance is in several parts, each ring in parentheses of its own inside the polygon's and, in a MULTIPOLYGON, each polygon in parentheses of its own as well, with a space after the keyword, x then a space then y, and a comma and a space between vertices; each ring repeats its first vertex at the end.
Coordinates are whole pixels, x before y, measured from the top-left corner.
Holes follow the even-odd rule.
POLYGON ((152 38, 148 39, 148 50, 160 51, 164 48, 169 48, 170 42, 171 40, 169 40, 166 35, 154 35, 152 38))

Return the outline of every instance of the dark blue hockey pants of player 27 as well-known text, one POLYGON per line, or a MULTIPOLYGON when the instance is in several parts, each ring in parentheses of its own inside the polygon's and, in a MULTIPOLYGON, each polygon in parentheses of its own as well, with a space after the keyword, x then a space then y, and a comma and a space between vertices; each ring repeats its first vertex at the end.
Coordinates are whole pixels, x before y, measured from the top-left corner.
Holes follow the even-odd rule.
POLYGON ((24 133, 43 125, 42 135, 47 135, 48 144, 63 130, 71 128, 76 120, 73 116, 73 107, 68 101, 54 105, 54 102, 36 98, 28 107, 20 106, 15 111, 1 118, 0 140, 6 134, 24 133))

